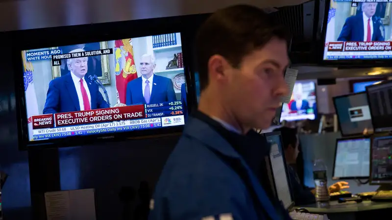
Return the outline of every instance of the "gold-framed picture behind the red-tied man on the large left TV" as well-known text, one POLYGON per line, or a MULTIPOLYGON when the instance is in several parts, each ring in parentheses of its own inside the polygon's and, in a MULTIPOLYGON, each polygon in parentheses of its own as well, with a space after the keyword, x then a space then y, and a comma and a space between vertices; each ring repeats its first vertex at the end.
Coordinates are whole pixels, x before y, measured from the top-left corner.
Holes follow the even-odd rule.
MULTIPOLYGON (((89 44, 77 44, 71 46, 64 47, 56 47, 50 49, 61 49, 62 53, 69 53, 74 49, 84 49, 88 50, 96 50, 96 49, 107 49, 107 42, 99 42, 99 43, 89 43, 89 44)), ((98 56, 89 56, 87 61, 88 71, 86 76, 88 75, 97 75, 98 79, 102 82, 103 85, 110 84, 110 69, 109 69, 109 55, 98 55, 98 56)), ((63 76, 70 71, 68 70, 67 60, 61 60, 61 66, 52 67, 52 76, 53 79, 63 76)))

